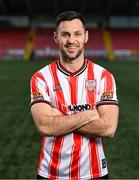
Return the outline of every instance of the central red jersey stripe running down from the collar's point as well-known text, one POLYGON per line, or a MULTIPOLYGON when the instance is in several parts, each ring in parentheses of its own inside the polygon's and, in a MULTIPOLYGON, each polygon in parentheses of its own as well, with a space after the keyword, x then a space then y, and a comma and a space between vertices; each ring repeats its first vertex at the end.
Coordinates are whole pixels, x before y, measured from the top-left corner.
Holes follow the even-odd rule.
MULTIPOLYGON (((70 84, 70 93, 71 93, 71 104, 77 104, 77 78, 78 76, 70 76, 69 77, 69 84, 70 84)), ((72 157, 71 157, 71 164, 70 164, 70 177, 78 178, 79 179, 79 163, 80 163, 80 153, 81 153, 81 137, 80 135, 73 133, 73 141, 74 146, 72 149, 72 157)))

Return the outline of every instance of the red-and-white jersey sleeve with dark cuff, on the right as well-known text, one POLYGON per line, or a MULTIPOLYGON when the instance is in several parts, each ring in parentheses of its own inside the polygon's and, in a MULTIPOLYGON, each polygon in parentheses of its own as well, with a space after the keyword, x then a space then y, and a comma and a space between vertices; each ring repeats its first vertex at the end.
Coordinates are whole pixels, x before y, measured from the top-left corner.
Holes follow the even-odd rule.
POLYGON ((103 70, 101 75, 96 107, 105 104, 119 105, 115 79, 113 75, 107 70, 103 70))

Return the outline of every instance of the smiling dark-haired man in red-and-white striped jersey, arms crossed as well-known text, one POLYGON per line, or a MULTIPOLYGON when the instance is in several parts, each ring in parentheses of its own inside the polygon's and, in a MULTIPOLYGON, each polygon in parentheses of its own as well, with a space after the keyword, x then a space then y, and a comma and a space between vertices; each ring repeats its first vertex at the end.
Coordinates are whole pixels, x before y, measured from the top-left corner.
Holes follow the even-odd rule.
POLYGON ((108 178, 103 137, 113 137, 118 100, 113 75, 84 58, 82 15, 61 13, 54 40, 60 58, 31 80, 31 113, 42 134, 37 179, 108 178))

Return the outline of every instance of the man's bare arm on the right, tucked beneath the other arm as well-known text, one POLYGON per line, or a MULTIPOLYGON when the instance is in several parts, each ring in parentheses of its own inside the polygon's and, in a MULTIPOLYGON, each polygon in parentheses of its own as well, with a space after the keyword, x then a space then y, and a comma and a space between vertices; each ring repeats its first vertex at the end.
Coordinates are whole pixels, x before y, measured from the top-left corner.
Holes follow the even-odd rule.
POLYGON ((117 105, 101 105, 98 107, 100 118, 76 130, 88 136, 113 137, 118 124, 119 107, 117 105))

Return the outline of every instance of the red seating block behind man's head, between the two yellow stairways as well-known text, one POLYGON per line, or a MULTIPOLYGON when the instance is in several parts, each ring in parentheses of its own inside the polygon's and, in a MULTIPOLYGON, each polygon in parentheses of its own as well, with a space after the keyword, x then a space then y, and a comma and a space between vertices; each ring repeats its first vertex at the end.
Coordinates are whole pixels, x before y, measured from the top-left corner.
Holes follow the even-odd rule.
MULTIPOLYGON (((86 44, 87 56, 104 56, 106 54, 103 34, 98 28, 89 28, 89 41, 86 44)), ((57 56, 58 48, 53 39, 54 28, 39 28, 36 31, 34 45, 35 57, 57 56)))

